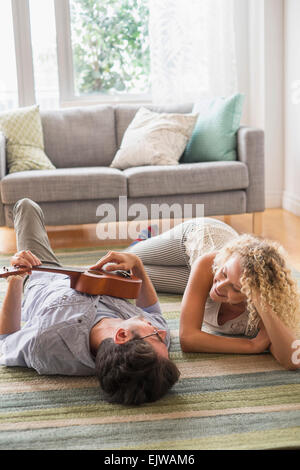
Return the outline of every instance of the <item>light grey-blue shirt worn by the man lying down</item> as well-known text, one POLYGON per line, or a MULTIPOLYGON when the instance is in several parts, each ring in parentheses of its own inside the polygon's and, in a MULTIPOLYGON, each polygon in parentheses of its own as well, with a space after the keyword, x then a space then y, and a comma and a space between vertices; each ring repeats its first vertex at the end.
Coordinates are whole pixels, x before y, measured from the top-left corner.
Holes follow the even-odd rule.
POLYGON ((30 367, 39 374, 94 375, 91 328, 105 317, 136 315, 167 330, 169 348, 170 332, 158 302, 141 309, 125 299, 81 294, 61 274, 33 273, 22 302, 24 325, 0 335, 0 365, 30 367))

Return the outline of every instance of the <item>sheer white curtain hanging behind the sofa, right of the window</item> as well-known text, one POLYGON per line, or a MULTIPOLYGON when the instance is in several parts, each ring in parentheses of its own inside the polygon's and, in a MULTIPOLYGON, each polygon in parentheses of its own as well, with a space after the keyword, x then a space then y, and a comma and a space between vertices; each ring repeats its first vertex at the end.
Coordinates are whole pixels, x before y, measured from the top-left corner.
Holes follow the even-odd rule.
POLYGON ((234 0, 150 0, 154 103, 237 90, 234 0))

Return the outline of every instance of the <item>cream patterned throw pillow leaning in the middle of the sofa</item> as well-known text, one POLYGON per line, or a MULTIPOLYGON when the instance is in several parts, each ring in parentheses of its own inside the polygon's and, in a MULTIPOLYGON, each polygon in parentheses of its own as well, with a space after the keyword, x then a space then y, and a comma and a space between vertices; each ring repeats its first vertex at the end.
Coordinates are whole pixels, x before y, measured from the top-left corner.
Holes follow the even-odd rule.
POLYGON ((111 167, 178 165, 197 115, 155 113, 140 108, 125 131, 111 167))

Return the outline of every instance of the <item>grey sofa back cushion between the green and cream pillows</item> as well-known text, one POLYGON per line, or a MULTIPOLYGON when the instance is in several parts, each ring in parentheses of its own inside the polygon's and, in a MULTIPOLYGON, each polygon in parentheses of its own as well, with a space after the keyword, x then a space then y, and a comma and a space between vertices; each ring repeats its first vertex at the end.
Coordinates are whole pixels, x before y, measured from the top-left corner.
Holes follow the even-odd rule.
POLYGON ((41 111, 45 152, 56 168, 108 166, 117 151, 112 106, 41 111))

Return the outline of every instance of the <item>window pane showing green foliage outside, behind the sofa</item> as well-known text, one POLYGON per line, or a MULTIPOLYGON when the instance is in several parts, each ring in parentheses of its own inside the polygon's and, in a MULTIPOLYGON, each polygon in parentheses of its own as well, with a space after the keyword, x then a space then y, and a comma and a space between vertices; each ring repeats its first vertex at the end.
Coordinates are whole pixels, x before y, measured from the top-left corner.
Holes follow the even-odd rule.
POLYGON ((77 94, 147 93, 148 0, 71 0, 77 94))

